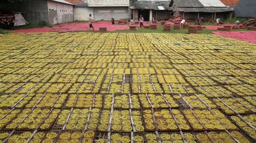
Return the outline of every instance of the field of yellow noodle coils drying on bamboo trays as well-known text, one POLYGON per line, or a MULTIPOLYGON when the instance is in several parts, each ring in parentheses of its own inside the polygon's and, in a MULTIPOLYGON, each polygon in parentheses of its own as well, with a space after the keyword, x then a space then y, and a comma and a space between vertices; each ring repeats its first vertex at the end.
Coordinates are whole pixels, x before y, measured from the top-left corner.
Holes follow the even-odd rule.
POLYGON ((0 43, 0 142, 256 141, 255 43, 87 32, 0 43))

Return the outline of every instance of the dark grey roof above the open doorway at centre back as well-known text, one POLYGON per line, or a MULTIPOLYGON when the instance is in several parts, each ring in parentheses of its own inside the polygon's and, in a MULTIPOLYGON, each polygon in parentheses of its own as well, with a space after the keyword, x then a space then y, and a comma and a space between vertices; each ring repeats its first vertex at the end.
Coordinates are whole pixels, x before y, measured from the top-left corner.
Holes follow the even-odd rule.
POLYGON ((143 1, 130 1, 130 9, 153 9, 153 10, 169 10, 171 11, 172 8, 169 7, 170 1, 150 1, 150 0, 143 0, 143 1), (161 8, 159 9, 158 6, 161 8), (162 9, 163 7, 163 9, 162 9))

